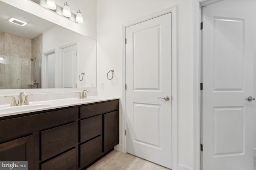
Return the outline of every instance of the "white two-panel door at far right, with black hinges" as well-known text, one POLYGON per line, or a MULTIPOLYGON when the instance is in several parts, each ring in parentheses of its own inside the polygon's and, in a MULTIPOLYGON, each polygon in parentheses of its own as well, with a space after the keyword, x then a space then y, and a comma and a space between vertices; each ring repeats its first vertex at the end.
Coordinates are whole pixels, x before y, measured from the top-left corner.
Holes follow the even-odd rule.
POLYGON ((203 170, 253 170, 253 20, 239 6, 203 8, 203 170))

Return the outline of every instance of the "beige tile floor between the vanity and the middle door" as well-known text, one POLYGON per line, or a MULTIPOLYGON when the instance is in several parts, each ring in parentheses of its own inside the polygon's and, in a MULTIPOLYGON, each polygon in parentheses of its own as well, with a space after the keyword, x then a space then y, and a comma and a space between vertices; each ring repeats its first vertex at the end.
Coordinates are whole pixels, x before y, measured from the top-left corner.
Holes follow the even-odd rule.
POLYGON ((170 170, 128 153, 113 150, 87 170, 170 170))

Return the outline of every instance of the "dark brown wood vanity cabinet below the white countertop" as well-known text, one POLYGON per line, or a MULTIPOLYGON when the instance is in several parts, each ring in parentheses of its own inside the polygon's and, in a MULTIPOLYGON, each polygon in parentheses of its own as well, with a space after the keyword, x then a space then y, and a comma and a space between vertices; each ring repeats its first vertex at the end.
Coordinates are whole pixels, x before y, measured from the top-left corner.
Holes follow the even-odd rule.
POLYGON ((118 99, 53 106, 0 117, 0 160, 28 160, 29 170, 80 170, 118 144, 118 99))

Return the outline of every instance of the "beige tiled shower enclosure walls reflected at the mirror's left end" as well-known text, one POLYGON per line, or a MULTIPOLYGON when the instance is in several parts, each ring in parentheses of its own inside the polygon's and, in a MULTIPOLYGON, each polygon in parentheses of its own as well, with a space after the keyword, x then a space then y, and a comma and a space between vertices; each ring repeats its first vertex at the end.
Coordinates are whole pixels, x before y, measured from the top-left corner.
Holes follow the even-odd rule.
POLYGON ((0 56, 4 57, 4 60, 0 60, 0 89, 37 88, 36 84, 31 83, 34 80, 41 84, 42 55, 37 62, 30 60, 36 57, 36 54, 32 55, 33 49, 42 51, 42 35, 38 37, 41 38, 34 38, 38 43, 32 44, 31 39, 0 32, 0 56), (34 45, 38 47, 32 47, 34 45))

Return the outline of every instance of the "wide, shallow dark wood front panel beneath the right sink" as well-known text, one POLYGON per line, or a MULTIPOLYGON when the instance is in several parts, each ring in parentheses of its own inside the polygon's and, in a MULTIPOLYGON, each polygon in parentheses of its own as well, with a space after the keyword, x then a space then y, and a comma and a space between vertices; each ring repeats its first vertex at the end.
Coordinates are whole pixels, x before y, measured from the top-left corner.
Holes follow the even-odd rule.
POLYGON ((80 107, 80 118, 92 117, 94 115, 108 113, 110 111, 119 109, 119 101, 113 100, 110 102, 103 102, 98 104, 91 104, 80 107))

